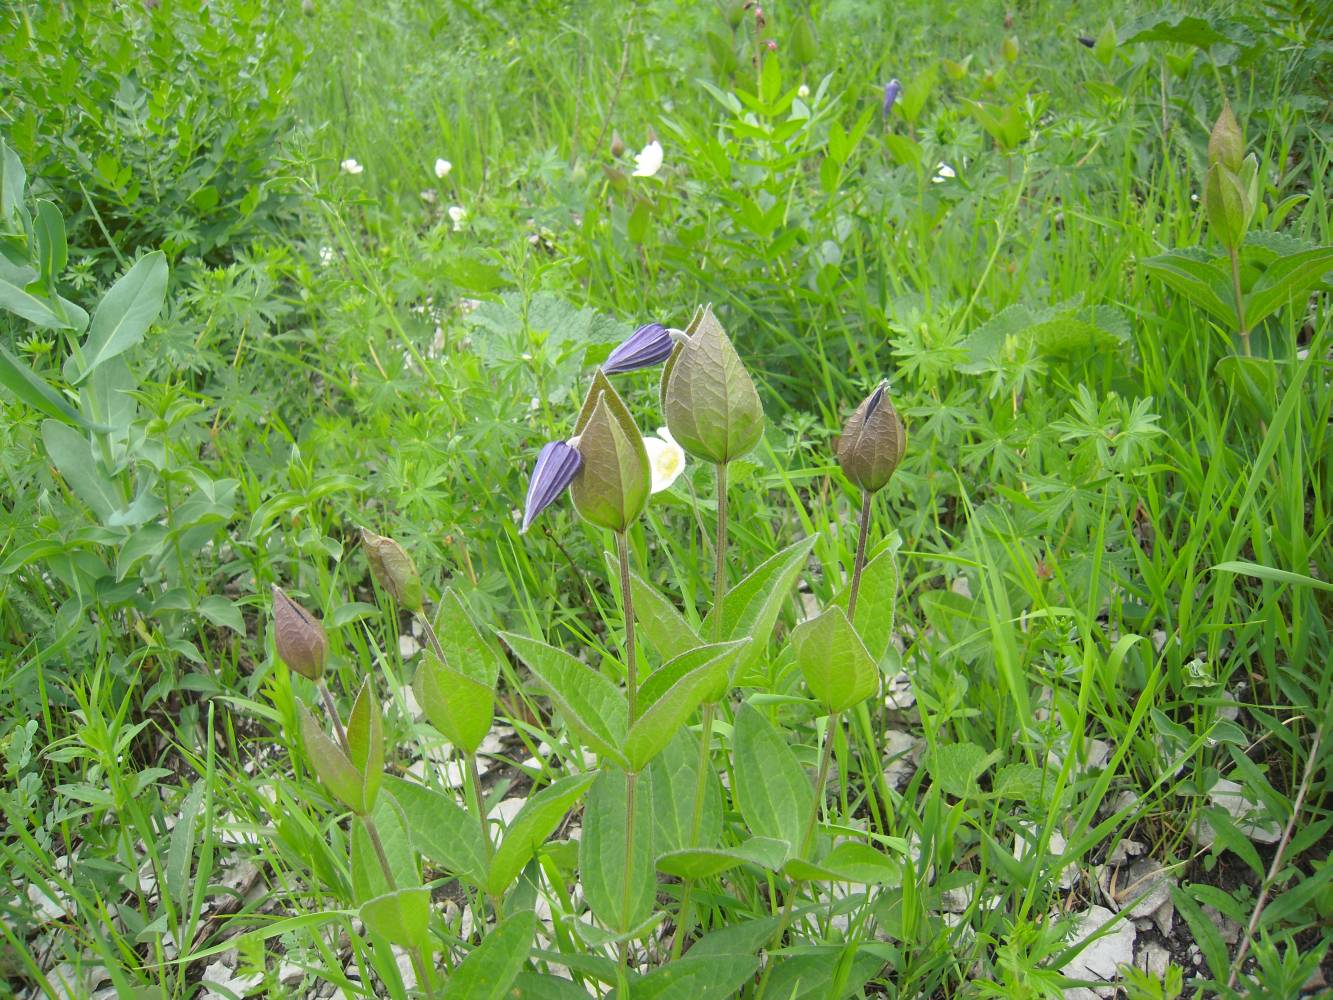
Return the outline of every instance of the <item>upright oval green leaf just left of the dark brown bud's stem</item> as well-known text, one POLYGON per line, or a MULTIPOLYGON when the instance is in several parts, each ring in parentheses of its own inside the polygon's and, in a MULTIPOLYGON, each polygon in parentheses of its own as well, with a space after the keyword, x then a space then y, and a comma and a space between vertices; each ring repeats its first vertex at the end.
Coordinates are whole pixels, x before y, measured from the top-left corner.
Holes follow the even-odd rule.
POLYGON ((742 704, 732 731, 734 795, 750 832, 784 840, 788 856, 801 849, 814 789, 777 729, 750 704, 742 704))

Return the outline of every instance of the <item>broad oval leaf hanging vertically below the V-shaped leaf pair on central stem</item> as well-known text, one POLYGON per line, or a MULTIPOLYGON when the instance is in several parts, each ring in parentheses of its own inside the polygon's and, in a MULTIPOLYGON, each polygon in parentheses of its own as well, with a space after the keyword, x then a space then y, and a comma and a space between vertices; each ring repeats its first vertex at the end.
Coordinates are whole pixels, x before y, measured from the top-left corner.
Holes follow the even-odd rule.
POLYGON ((584 803, 579 872, 593 915, 612 931, 625 932, 653 911, 653 816, 648 788, 633 776, 604 769, 584 803), (631 793, 633 792, 632 800, 631 793), (628 837, 631 809, 633 836, 628 837))

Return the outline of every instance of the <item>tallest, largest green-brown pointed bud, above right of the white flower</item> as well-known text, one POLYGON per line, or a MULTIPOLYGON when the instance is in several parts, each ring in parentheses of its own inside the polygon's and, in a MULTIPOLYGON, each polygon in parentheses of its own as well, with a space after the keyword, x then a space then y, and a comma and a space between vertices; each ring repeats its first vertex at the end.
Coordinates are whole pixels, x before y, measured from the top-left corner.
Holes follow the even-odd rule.
POLYGON ((710 305, 694 312, 666 359, 661 400, 666 429, 696 459, 728 463, 764 436, 764 405, 754 381, 710 305))

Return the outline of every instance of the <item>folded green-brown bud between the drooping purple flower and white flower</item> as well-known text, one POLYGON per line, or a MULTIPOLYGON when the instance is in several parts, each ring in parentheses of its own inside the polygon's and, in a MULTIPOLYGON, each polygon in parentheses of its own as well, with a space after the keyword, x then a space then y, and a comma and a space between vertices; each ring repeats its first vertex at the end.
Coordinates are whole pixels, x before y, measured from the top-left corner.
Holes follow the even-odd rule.
POLYGON ((583 459, 569 484, 575 509, 599 528, 625 531, 648 505, 652 472, 644 436, 601 369, 593 376, 569 443, 583 459))

